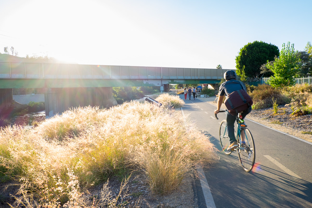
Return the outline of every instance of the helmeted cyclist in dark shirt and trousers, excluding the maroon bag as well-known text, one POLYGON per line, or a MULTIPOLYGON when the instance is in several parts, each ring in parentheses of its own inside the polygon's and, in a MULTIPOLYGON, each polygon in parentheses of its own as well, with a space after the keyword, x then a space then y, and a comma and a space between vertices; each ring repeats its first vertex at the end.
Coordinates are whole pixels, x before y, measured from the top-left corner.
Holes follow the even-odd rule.
MULTIPOLYGON (((236 72, 234 70, 227 70, 224 73, 224 79, 226 81, 220 85, 219 96, 218 96, 218 101, 217 101, 217 109, 214 111, 215 114, 217 114, 220 111, 220 108, 221 108, 221 105, 222 105, 222 102, 223 102, 225 95, 229 95, 236 90, 241 90, 241 84, 244 86, 244 89, 246 90, 246 85, 244 83, 236 80, 236 78, 237 78, 237 75, 236 75, 236 72)), ((241 113, 243 119, 250 112, 251 112, 251 106, 241 113)), ((227 111, 226 120, 227 120, 227 125, 226 125, 227 126, 227 133, 228 133, 228 136, 230 138, 230 145, 227 148, 227 150, 234 150, 235 148, 238 147, 237 142, 236 142, 236 138, 235 138, 235 134, 234 134, 234 123, 236 121, 236 115, 233 116, 232 114, 230 114, 229 111, 227 111)), ((245 142, 244 137, 245 137, 244 131, 241 131, 242 142, 245 142)))

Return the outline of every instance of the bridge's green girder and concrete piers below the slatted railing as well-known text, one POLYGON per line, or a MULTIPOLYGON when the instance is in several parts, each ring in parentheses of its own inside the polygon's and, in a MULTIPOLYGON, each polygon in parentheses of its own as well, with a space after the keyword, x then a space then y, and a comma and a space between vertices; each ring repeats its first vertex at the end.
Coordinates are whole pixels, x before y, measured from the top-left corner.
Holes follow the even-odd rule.
MULTIPOLYGON (((220 80, 200 79, 0 79, 0 109, 13 103, 13 88, 45 89, 46 117, 61 114, 71 107, 111 107, 117 102, 112 87, 164 86, 169 84, 216 84, 220 80)), ((166 91, 166 90, 165 90, 166 91)))

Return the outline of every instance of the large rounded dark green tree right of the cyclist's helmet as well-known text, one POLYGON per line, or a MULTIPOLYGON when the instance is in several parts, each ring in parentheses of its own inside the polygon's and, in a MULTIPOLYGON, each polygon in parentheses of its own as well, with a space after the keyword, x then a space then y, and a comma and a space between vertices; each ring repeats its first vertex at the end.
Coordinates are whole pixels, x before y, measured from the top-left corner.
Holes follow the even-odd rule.
POLYGON ((271 43, 262 41, 248 43, 241 48, 238 56, 236 56, 236 73, 242 81, 259 81, 262 76, 266 75, 261 74, 261 65, 265 64, 267 60, 274 60, 274 56, 278 55, 278 47, 271 43))

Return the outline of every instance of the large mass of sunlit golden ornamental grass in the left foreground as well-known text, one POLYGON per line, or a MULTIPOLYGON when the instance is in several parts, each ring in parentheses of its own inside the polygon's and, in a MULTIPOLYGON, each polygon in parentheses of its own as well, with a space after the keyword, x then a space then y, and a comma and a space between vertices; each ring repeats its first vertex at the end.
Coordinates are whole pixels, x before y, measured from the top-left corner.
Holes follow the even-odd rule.
POLYGON ((165 194, 194 163, 214 161, 215 151, 177 111, 147 102, 75 108, 30 130, 2 128, 0 177, 20 183, 13 207, 100 207, 84 193, 112 176, 141 170, 151 191, 165 194))

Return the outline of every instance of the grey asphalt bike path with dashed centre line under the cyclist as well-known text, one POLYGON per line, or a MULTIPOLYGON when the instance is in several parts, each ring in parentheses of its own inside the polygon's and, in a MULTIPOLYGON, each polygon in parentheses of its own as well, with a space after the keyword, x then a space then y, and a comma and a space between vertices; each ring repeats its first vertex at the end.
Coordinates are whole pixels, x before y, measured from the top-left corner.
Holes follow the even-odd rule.
MULTIPOLYGON (((219 122, 225 114, 219 113, 217 120, 215 106, 199 99, 185 102, 186 119, 195 120, 197 128, 211 136, 221 151, 219 122)), ((255 140, 256 168, 247 173, 239 164, 237 152, 218 152, 220 159, 203 167, 215 206, 312 207, 312 145, 258 123, 245 122, 255 140)))

